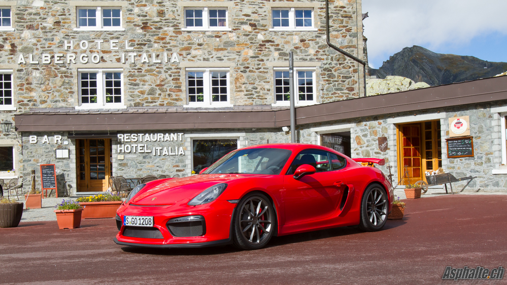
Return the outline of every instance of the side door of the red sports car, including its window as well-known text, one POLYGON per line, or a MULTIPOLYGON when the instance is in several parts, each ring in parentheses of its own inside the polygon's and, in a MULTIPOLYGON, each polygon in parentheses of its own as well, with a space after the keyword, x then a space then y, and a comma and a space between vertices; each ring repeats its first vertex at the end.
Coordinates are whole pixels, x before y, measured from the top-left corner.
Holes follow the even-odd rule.
POLYGON ((284 175, 285 224, 309 222, 330 217, 339 206, 346 183, 341 172, 331 171, 327 152, 306 150, 299 153, 284 175), (310 164, 317 172, 299 180, 294 170, 302 164, 310 164))

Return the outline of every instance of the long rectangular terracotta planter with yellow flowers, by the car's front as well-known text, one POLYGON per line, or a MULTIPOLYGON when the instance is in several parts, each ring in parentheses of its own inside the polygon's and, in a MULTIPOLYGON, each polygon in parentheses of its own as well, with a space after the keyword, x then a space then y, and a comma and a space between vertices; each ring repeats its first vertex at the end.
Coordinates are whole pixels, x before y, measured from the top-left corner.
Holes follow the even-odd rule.
POLYGON ((80 197, 76 201, 83 206, 82 219, 114 218, 122 200, 120 194, 107 191, 95 196, 80 197))

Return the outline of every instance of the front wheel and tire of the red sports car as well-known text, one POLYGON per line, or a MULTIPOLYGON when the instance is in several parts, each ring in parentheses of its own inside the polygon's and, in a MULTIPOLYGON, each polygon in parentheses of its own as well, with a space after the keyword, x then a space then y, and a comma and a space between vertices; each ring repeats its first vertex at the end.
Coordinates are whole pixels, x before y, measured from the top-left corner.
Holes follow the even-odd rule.
POLYGON ((276 229, 277 218, 273 205, 261 193, 253 192, 243 197, 233 218, 232 244, 242 250, 264 247, 276 229))

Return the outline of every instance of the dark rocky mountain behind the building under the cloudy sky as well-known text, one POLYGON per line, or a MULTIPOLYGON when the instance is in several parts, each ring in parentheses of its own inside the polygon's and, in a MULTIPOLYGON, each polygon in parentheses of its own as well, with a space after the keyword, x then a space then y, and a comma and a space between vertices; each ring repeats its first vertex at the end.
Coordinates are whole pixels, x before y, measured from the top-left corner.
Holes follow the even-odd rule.
POLYGON ((370 68, 370 75, 384 79, 395 75, 431 86, 494 77, 507 70, 506 62, 489 62, 473 56, 434 53, 413 46, 384 61, 379 69, 370 68))

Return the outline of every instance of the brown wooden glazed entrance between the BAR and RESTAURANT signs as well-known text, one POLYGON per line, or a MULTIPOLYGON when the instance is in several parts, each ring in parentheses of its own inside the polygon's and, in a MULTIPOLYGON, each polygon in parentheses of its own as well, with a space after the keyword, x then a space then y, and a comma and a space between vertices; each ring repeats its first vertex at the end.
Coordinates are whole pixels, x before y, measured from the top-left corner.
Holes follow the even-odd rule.
POLYGON ((104 192, 111 167, 111 139, 76 139, 77 192, 104 192))

